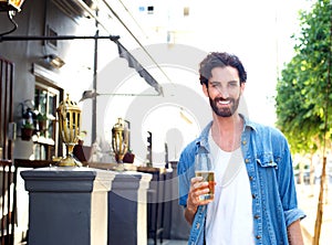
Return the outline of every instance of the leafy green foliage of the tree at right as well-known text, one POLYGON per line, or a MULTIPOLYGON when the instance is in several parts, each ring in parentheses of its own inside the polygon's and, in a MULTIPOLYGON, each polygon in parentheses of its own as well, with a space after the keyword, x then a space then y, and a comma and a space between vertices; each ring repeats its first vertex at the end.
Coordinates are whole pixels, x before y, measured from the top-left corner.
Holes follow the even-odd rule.
POLYGON ((332 3, 317 0, 299 20, 295 55, 277 83, 277 126, 293 152, 314 152, 332 136, 332 3))

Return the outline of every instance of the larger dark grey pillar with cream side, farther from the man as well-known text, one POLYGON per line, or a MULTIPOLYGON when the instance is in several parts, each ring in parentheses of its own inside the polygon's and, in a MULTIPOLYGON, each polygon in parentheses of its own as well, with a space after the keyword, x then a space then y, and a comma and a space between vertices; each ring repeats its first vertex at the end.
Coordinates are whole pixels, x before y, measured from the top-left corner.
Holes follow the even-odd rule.
POLYGON ((29 244, 107 244, 107 193, 114 172, 50 167, 21 175, 29 191, 29 244))

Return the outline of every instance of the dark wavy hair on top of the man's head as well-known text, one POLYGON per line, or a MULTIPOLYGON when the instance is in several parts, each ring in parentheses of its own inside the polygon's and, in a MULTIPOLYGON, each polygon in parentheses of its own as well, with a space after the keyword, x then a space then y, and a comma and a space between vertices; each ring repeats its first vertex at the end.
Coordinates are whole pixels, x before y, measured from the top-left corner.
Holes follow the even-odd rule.
POLYGON ((234 54, 226 52, 212 52, 209 53, 200 63, 199 63, 199 81, 200 84, 208 86, 208 79, 211 77, 211 70, 215 67, 225 67, 231 66, 239 72, 240 83, 247 82, 247 72, 238 58, 234 54))

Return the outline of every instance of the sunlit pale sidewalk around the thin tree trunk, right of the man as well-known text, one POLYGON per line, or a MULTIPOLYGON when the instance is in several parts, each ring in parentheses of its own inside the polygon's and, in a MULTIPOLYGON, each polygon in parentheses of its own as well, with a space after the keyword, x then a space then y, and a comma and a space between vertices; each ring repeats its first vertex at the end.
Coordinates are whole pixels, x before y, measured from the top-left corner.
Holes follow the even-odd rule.
MULTIPOLYGON (((304 236, 304 244, 312 245, 320 184, 317 183, 313 188, 308 184, 298 184, 297 192, 298 192, 299 207, 303 210, 307 214, 307 217, 301 221, 302 233, 304 236)), ((331 183, 328 190, 328 199, 326 199, 326 192, 324 192, 324 196, 325 196, 324 198, 325 202, 323 205, 320 245, 331 244, 332 241, 332 185, 331 183)))

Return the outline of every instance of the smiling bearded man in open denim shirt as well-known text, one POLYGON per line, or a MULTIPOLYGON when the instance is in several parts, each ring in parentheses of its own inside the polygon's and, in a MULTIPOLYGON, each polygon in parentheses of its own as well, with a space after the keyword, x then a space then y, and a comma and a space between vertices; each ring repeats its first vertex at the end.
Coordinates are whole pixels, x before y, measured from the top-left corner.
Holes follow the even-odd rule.
POLYGON ((239 114, 247 73, 228 53, 210 53, 199 79, 212 121, 181 152, 179 204, 191 224, 189 244, 303 244, 292 160, 284 136, 239 114), (199 200, 208 182, 195 177, 195 155, 210 152, 215 199, 199 200))

